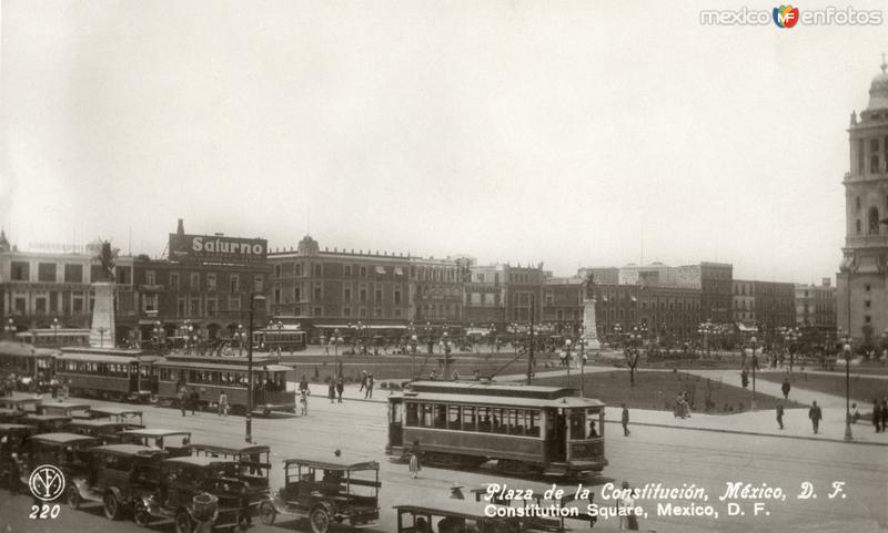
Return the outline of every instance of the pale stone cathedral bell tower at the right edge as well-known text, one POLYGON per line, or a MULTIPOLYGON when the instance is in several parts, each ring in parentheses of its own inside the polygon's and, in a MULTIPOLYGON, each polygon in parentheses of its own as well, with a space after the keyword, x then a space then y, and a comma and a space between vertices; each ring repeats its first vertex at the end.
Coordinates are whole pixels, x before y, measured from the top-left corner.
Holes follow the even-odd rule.
MULTIPOLYGON (((869 86, 860 120, 848 129, 850 172, 845 173, 845 247, 836 276, 837 326, 855 341, 888 328, 888 64, 869 86)), ((838 339, 841 341, 841 339, 838 339)))

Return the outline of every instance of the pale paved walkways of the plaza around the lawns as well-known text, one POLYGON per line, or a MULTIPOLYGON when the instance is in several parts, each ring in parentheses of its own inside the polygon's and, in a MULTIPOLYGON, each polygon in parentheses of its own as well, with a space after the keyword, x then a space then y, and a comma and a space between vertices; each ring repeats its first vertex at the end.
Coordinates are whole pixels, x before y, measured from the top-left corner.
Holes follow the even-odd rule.
MULTIPOLYGON (((586 373, 607 372, 614 370, 613 367, 589 367, 585 368, 586 373)), ((652 371, 652 369, 645 369, 652 371)), ((656 370, 668 371, 670 369, 656 370)), ((739 383, 740 377, 737 370, 682 370, 684 372, 697 375, 704 378, 714 380, 723 380, 727 383, 739 383)), ((566 376, 566 370, 545 370, 536 372, 537 378, 548 378, 566 376)), ((572 370, 573 376, 576 371, 572 370)), ((502 376, 500 380, 503 381, 521 381, 526 379, 526 375, 502 376)), ((293 387, 295 383, 291 383, 293 387)), ((312 383, 312 398, 313 401, 326 400, 327 386, 326 383, 312 383)), ((380 388, 377 381, 374 390, 373 398, 365 399, 363 392, 359 392, 360 386, 355 383, 346 383, 343 392, 343 401, 373 401, 385 402, 385 398, 392 393, 391 390, 380 388)), ((774 383, 765 380, 756 381, 756 393, 763 396, 773 396, 775 398, 783 398, 780 383, 774 383)), ((751 383, 750 383, 751 396, 751 383)), ((747 435, 761 435, 761 437, 776 437, 785 439, 807 439, 814 441, 838 441, 845 442, 845 398, 835 394, 826 394, 805 390, 798 385, 794 385, 789 392, 789 400, 797 403, 810 404, 817 401, 821 407, 824 419, 820 421, 819 432, 814 434, 811 422, 808 419, 808 409, 786 409, 784 412, 784 428, 779 429, 777 424, 777 417, 774 409, 746 411, 736 414, 706 414, 700 412, 692 412, 687 419, 680 419, 673 416, 672 411, 657 411, 650 409, 630 409, 629 410, 629 431, 643 431, 644 427, 657 428, 674 428, 679 430, 696 430, 709 431, 719 433, 736 433, 747 435)), ((868 406, 862 406, 867 409, 868 406)), ((605 421, 613 424, 609 431, 617 434, 622 432, 619 428, 622 410, 618 406, 608 407, 605 411, 605 421)), ((852 439, 848 443, 854 444, 869 444, 869 445, 888 445, 888 433, 876 433, 869 419, 861 419, 857 423, 851 424, 852 439)), ((629 437, 630 438, 630 437, 629 437)))

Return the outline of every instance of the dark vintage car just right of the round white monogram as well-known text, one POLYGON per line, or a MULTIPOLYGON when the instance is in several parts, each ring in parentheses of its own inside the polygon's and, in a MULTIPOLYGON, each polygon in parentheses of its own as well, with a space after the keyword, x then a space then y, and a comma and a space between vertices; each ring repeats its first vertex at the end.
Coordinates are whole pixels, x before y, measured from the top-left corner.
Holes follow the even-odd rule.
POLYGON ((68 480, 68 504, 78 509, 84 501, 101 502, 110 520, 132 512, 141 496, 158 490, 160 461, 167 457, 138 444, 100 445, 89 454, 89 470, 68 480))

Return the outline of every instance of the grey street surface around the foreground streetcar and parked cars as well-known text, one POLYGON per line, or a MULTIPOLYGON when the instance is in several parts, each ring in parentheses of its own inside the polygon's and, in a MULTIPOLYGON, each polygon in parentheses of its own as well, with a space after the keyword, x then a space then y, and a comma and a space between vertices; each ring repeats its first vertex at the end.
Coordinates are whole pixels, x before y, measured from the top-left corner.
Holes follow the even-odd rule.
MULTIPOLYGON (((383 391, 380 391, 383 392, 383 391)), ((331 404, 325 398, 312 397, 307 418, 285 417, 255 419, 254 441, 272 448, 271 486, 283 483, 282 459, 312 457, 334 459, 333 451, 342 451, 342 460, 375 460, 381 465, 381 520, 366 531, 395 530, 392 505, 416 499, 443 499, 455 482, 468 490, 488 482, 506 483, 514 489, 543 491, 551 484, 519 479, 503 479, 494 472, 461 472, 425 468, 420 479, 412 480, 404 464, 389 462, 383 454, 386 439, 386 406, 383 402, 346 400, 331 404)), ((152 428, 189 429, 194 442, 233 444, 243 441, 244 420, 240 417, 220 418, 214 413, 182 417, 178 410, 145 408, 145 424, 152 428)), ((617 488, 628 481, 633 488, 646 483, 663 486, 683 485, 703 488, 718 519, 706 516, 658 515, 658 503, 685 505, 682 500, 640 501, 647 517, 640 520, 642 530, 669 531, 820 531, 868 532, 884 531, 888 494, 884 480, 888 478, 885 449, 874 445, 851 445, 838 442, 817 442, 799 439, 776 439, 731 433, 714 433, 688 429, 630 427, 632 435, 622 435, 617 424, 607 424, 606 444, 609 467, 604 478, 596 481, 595 502, 615 505, 602 500, 602 483, 613 481, 617 488), (834 482, 845 482, 835 499, 834 482), (727 483, 743 482, 760 488, 781 488, 785 501, 753 498, 739 503, 745 515, 728 516, 727 502, 718 501, 727 483), (816 498, 798 499, 803 483, 813 484, 816 498), (846 498, 844 498, 846 496, 846 498), (758 516, 754 504, 765 504, 758 516), (765 514, 768 513, 768 514, 765 514)), ((569 485, 573 490, 573 484, 569 485)), ((0 493, 0 525, 6 531, 100 531, 112 525, 101 514, 98 505, 73 511, 62 504, 56 520, 32 521, 28 495, 11 496, 0 493)), ((584 510, 585 511, 585 510, 584 510)), ((575 529, 582 522, 568 521, 575 529)), ((281 520, 273 527, 254 525, 251 531, 271 532, 280 527, 307 531, 304 522, 281 520)), ((155 531, 172 531, 171 524, 159 524, 155 531)), ((595 531, 617 531, 616 519, 602 520, 595 531)), ((130 521, 113 523, 114 531, 140 531, 130 521)))

